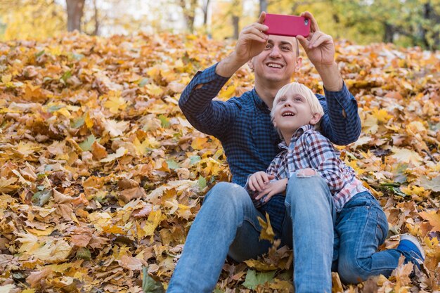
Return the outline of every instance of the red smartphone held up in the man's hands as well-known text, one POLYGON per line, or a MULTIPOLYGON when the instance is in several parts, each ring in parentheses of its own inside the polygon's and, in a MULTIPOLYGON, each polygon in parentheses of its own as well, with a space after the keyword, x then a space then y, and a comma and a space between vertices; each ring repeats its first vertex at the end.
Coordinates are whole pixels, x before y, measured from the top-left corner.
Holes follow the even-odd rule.
POLYGON ((288 37, 309 37, 310 34, 310 20, 302 16, 267 13, 264 25, 269 27, 265 34, 288 37))

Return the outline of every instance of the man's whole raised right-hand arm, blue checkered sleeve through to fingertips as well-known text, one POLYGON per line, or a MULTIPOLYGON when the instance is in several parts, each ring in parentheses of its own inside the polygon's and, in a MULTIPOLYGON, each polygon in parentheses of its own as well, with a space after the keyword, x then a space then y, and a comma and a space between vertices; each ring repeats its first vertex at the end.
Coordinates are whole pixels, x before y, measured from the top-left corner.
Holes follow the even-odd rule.
POLYGON ((321 104, 325 105, 328 111, 321 122, 323 134, 337 145, 353 143, 361 135, 361 119, 357 102, 345 86, 335 63, 333 39, 319 30, 318 23, 311 13, 305 12, 301 16, 311 20, 311 33, 307 38, 297 36, 297 39, 324 84, 326 103, 322 103, 321 100, 321 104))

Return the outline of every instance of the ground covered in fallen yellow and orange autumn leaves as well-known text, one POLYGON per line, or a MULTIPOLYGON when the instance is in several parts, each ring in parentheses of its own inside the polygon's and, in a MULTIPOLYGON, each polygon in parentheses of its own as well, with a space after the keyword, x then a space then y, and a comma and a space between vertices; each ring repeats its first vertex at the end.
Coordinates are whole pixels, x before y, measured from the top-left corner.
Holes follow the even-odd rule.
MULTIPOLYGON (((230 178, 219 141, 177 101, 232 48, 169 34, 0 44, 0 292, 167 287, 202 197, 230 178)), ((363 122, 342 157, 387 213, 381 249, 410 233, 427 259, 412 279, 404 265, 358 286, 335 274, 335 292, 439 290, 440 55, 340 42, 337 62, 363 122)), ((321 92, 304 63, 297 80, 321 92)), ((219 98, 252 84, 243 67, 219 98)), ((291 263, 286 247, 227 262, 216 292, 289 292, 291 263)))

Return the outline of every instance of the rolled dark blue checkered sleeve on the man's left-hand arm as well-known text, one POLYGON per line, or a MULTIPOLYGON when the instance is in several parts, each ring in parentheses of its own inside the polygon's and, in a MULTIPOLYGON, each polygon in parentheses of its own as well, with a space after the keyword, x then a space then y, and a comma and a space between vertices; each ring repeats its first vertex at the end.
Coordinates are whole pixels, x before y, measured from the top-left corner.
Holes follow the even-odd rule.
POLYGON ((179 107, 195 129, 220 136, 233 121, 238 107, 212 100, 229 79, 216 74, 216 66, 195 74, 181 94, 179 107))

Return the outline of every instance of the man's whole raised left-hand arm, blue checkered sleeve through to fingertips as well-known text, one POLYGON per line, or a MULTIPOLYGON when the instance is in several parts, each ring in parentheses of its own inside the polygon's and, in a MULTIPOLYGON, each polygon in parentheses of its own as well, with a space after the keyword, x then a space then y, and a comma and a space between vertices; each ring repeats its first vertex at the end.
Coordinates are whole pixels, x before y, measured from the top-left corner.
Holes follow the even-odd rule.
POLYGON ((238 37, 235 51, 216 65, 198 72, 186 86, 179 99, 179 107, 190 124, 205 134, 221 136, 233 122, 239 107, 234 103, 212 101, 228 79, 266 46, 268 37, 263 25, 266 13, 259 20, 245 27, 238 37))

